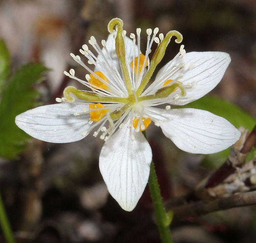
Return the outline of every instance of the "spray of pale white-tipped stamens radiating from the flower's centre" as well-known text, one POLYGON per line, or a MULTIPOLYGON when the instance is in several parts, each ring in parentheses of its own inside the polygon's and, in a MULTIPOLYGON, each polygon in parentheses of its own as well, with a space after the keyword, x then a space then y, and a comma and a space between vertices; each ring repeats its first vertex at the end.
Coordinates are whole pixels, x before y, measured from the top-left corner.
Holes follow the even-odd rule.
MULTIPOLYGON (((143 119, 150 118, 155 123, 156 126, 160 125, 161 120, 169 119, 168 117, 162 114, 159 114, 159 113, 155 114, 153 111, 148 110, 147 107, 168 103, 168 101, 170 101, 171 98, 172 99, 179 98, 181 95, 181 90, 179 90, 178 88, 176 88, 173 92, 171 92, 170 95, 166 97, 154 97, 154 95, 156 95, 156 93, 159 90, 161 90, 164 86, 169 86, 169 85, 165 85, 165 82, 169 79, 169 77, 179 74, 179 76, 175 76, 176 78, 174 80, 170 80, 170 83, 173 84, 173 83, 179 82, 179 79, 185 75, 187 70, 193 67, 193 64, 190 64, 188 68, 185 69, 186 64, 185 62, 183 62, 183 57, 186 51, 184 49, 184 45, 182 45, 179 53, 174 57, 174 59, 170 63, 166 73, 160 79, 148 85, 148 87, 144 91, 142 91, 141 94, 137 94, 138 88, 140 87, 143 79, 145 78, 145 75, 151 68, 151 63, 148 55, 152 51, 151 48, 153 43, 154 42, 157 43, 159 47, 160 44, 165 40, 164 35, 162 33, 160 33, 159 36, 157 37, 158 32, 159 32, 159 28, 155 28, 153 31, 152 29, 146 30, 147 44, 146 44, 145 56, 143 55, 143 58, 144 58, 143 62, 141 62, 140 60, 141 58, 141 49, 140 49, 141 29, 140 28, 136 30, 137 38, 135 34, 133 33, 130 34, 130 38, 133 41, 131 64, 128 63, 127 56, 125 56, 125 61, 123 63, 119 58, 121 68, 126 68, 128 70, 128 76, 129 76, 128 79, 130 79, 131 91, 129 91, 129 88, 126 83, 127 81, 124 82, 124 77, 121 77, 121 75, 124 76, 123 72, 119 72, 117 70, 114 60, 112 59, 111 53, 107 48, 107 43, 105 40, 101 41, 102 47, 100 47, 95 37, 91 36, 89 40, 89 44, 97 52, 98 54, 97 56, 92 51, 89 50, 86 44, 82 46, 82 49, 80 49, 80 53, 83 54, 88 59, 89 65, 94 65, 96 70, 100 70, 100 72, 104 74, 108 82, 105 81, 102 77, 100 77, 97 74, 97 72, 89 68, 89 66, 86 65, 83 61, 81 61, 81 58, 79 55, 74 55, 73 53, 70 54, 71 57, 77 63, 79 63, 89 72, 90 75, 93 75, 95 78, 97 78, 101 83, 103 83, 106 86, 106 88, 102 88, 90 82, 91 76, 89 74, 85 76, 86 80, 82 80, 75 76, 74 69, 70 69, 69 72, 67 71, 64 72, 64 74, 70 77, 71 79, 75 79, 80 83, 82 83, 83 85, 85 85, 86 87, 90 88, 91 91, 85 91, 87 95, 90 95, 90 94, 98 95, 97 96, 98 101, 92 101, 93 103, 97 103, 97 102, 104 103, 104 107, 85 109, 81 112, 77 112, 76 114, 74 114, 75 116, 79 116, 81 114, 91 114, 91 112, 96 112, 96 111, 105 112, 105 115, 103 116, 103 118, 101 118, 98 121, 93 121, 92 119, 88 120, 88 123, 91 126, 88 130, 82 133, 83 136, 86 136, 89 132, 91 132, 96 127, 98 127, 98 129, 94 132, 93 135, 96 137, 100 132, 102 132, 102 134, 100 135, 100 139, 106 141, 110 138, 110 136, 116 131, 118 127, 122 128, 124 126, 124 120, 126 120, 127 118, 129 120, 130 137, 131 139, 134 139, 134 134, 133 134, 134 131, 139 132, 146 129, 145 124, 143 123, 143 119), (137 59, 137 65, 136 65, 136 59, 137 59), (125 67, 122 67, 122 65, 124 65, 125 67), (147 70, 146 70, 146 67, 147 67, 147 70), (134 101, 129 100, 129 97, 131 97, 131 95, 129 95, 130 93, 133 94, 132 97, 134 101), (110 100, 108 99, 102 100, 101 97, 105 97, 105 98, 109 97, 110 100), (117 99, 113 101, 111 100, 111 97, 112 98, 115 97, 117 99), (123 98, 123 99, 126 98, 126 101, 124 102, 122 100, 119 102, 118 98, 123 98), (116 111, 122 111, 122 114, 117 119, 113 119, 112 114, 116 111), (158 118, 156 118, 156 116, 158 118), (133 129, 133 121, 135 118, 138 119, 138 124, 137 124, 137 127, 136 128, 134 127, 133 129), (107 121, 109 122, 109 128, 106 128, 105 126, 107 121)), ((112 35, 112 37, 116 39, 116 43, 117 43, 117 34, 118 34, 118 31, 116 30, 112 35)), ((127 41, 125 30, 122 30, 122 36, 125 43, 127 41)), ((130 56, 130 59, 131 59, 131 56, 130 56)), ((191 84, 190 86, 193 86, 193 85, 194 84, 191 84)), ((180 83, 180 86, 182 87, 182 83, 180 83)), ((189 85, 187 85, 186 88, 189 88, 189 85)), ((62 102, 62 101, 73 102, 74 99, 65 97, 65 98, 56 98, 56 101, 57 102, 62 102)), ((92 103, 89 100, 85 100, 83 98, 82 100, 76 100, 75 102, 82 102, 87 106, 89 106, 89 104, 92 103)), ((170 106, 167 106, 166 110, 169 110, 169 109, 170 109, 170 106)))

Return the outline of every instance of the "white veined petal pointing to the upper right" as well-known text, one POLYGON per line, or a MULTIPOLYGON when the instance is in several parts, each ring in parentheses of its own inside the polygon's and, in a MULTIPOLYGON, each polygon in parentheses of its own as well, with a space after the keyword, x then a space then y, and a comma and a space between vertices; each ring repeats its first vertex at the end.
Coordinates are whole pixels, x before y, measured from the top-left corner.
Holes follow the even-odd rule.
MULTIPOLYGON (((188 104, 213 90, 219 81, 221 81, 230 63, 230 56, 226 52, 217 51, 188 52, 185 54, 182 62, 186 63, 184 70, 191 63, 194 63, 194 67, 186 71, 183 78, 179 78, 179 81, 185 86, 187 94, 185 97, 171 100, 169 102, 170 104, 188 104), (186 87, 186 85, 190 86, 193 83, 195 83, 194 86, 186 87)), ((167 63, 159 70, 156 80, 160 79, 168 71, 168 65, 170 66, 170 63, 167 63)), ((181 72, 178 72, 176 75, 166 78, 166 80, 176 80, 180 74, 181 72)))

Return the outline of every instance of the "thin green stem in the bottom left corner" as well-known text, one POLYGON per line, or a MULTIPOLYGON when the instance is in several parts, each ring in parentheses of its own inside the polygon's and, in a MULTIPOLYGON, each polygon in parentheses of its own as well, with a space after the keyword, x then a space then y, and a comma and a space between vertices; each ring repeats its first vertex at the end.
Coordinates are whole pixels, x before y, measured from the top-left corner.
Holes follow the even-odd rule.
POLYGON ((0 194, 0 223, 2 226, 2 231, 3 231, 6 242, 15 243, 16 241, 14 239, 13 232, 4 209, 1 194, 0 194))

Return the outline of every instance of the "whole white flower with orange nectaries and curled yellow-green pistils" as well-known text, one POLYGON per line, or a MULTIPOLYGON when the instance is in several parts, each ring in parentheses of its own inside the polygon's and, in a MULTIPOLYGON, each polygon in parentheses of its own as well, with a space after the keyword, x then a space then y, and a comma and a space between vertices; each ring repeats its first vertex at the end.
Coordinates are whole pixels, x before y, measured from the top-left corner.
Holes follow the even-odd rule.
POLYGON ((61 104, 41 106, 16 117, 16 124, 29 135, 52 143, 79 141, 94 130, 94 136, 106 142, 99 157, 99 167, 110 194, 127 211, 133 210, 141 197, 150 173, 152 151, 140 131, 154 123, 180 149, 190 153, 215 153, 235 143, 240 132, 222 117, 197 109, 171 109, 184 105, 210 92, 222 79, 230 62, 224 52, 189 52, 184 46, 172 61, 163 66, 155 80, 148 84, 161 61, 172 36, 176 42, 182 35, 170 31, 166 37, 158 28, 147 29, 145 55, 140 51, 140 33, 126 37, 123 21, 112 19, 112 32, 103 48, 92 36, 89 44, 97 57, 83 45, 80 56, 71 53, 89 74, 86 81, 75 77, 73 69, 65 74, 91 91, 67 87, 61 104), (117 25, 117 30, 113 30, 117 25), (153 35, 152 35, 153 34, 153 35), (158 47, 151 60, 153 42, 158 47), (74 96, 71 97, 70 93, 74 96), (75 98, 74 98, 75 97, 75 98), (165 109, 156 108, 167 104, 165 109), (108 124, 108 125, 107 125, 108 124))

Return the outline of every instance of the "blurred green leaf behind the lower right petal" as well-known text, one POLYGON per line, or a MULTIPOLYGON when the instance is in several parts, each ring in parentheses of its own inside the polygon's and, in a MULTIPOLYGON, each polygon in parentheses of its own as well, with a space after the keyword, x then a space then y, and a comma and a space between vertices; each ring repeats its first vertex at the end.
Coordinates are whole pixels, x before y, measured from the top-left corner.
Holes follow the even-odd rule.
MULTIPOLYGON (((176 108, 181 107, 176 106, 176 108)), ((182 108, 196 108, 210 111, 215 115, 224 117, 235 127, 239 128, 243 126, 250 131, 253 129, 256 123, 255 118, 250 114, 244 112, 241 108, 229 103, 226 100, 222 100, 212 96, 204 96, 199 100, 183 106, 182 108)), ((230 148, 218 153, 207 155, 205 160, 203 161, 203 164, 211 167, 221 165, 228 158, 229 152, 230 148)))

